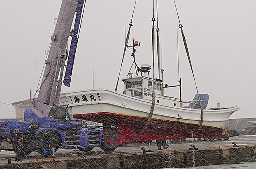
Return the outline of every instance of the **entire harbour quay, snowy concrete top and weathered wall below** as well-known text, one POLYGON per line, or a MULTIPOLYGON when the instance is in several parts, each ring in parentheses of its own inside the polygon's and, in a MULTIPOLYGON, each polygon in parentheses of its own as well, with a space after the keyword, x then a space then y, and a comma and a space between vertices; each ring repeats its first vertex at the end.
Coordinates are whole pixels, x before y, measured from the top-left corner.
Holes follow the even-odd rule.
POLYGON ((165 150, 158 150, 153 142, 152 152, 143 152, 141 148, 148 150, 148 147, 142 142, 118 147, 112 153, 105 153, 100 148, 88 153, 60 149, 55 157, 43 158, 34 152, 22 162, 13 160, 12 151, 2 151, 0 169, 162 169, 238 164, 256 162, 256 144, 253 143, 256 143, 256 135, 230 137, 228 141, 219 142, 170 142, 169 149, 165 150))

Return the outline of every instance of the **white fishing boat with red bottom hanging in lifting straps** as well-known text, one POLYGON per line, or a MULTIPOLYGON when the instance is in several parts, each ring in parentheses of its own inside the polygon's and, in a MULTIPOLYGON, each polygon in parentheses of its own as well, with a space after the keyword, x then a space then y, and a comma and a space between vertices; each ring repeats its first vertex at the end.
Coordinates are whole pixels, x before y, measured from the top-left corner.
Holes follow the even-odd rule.
MULTIPOLYGON (((240 107, 206 108, 208 95, 199 94, 198 90, 195 99, 189 102, 190 106, 183 106, 185 102, 182 101, 181 79, 177 85, 180 90, 180 98, 165 96, 164 89, 175 86, 164 85, 163 70, 160 79, 159 29, 158 26, 156 30, 154 27, 154 9, 152 21, 153 72, 151 74, 153 76, 150 77, 149 73, 151 65, 143 64, 139 67, 135 61, 136 48, 140 46, 140 43, 133 38, 133 45, 128 46, 131 20, 123 57, 128 47, 133 49, 131 68, 135 66, 135 75, 133 76, 133 72, 129 71, 127 77, 122 79, 125 86, 123 93, 108 89, 67 92, 66 96, 69 106, 72 108, 73 117, 102 123, 103 143, 108 145, 133 141, 219 137, 230 115, 240 107), (154 77, 155 31, 157 32, 158 78, 154 77), (113 131, 111 126, 115 126, 116 130, 113 131)), ((180 28, 182 30, 181 24, 180 28)), ((183 30, 182 36, 189 58, 183 30)), ((123 59, 121 67, 122 64, 123 59)))

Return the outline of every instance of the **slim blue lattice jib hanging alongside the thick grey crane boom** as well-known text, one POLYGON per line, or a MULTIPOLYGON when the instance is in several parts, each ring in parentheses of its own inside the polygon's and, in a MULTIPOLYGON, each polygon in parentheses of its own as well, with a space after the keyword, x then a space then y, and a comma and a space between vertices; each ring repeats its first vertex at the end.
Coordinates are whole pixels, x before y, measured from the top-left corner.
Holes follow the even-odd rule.
POLYGON ((70 45, 70 51, 68 54, 68 59, 67 59, 67 68, 65 72, 65 77, 63 80, 63 83, 65 86, 69 87, 70 86, 70 81, 71 81, 71 76, 72 76, 72 70, 73 70, 73 65, 74 65, 74 56, 76 54, 77 50, 77 43, 78 43, 78 38, 79 38, 79 28, 81 27, 81 14, 82 14, 82 9, 85 4, 86 0, 79 0, 77 4, 77 15, 75 18, 75 23, 74 23, 74 30, 72 32, 72 40, 71 40, 71 45, 70 45))

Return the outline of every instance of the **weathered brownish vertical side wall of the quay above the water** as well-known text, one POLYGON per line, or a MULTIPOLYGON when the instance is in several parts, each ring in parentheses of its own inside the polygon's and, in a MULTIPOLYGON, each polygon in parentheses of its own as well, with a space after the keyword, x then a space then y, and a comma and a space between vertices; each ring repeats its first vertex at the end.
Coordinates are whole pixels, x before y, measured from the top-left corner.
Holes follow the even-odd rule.
POLYGON ((1 169, 159 169, 186 168, 216 164, 256 161, 256 145, 245 147, 211 147, 206 150, 166 150, 149 154, 112 153, 100 157, 31 159, 24 164, 6 164, 1 169), (193 160, 194 159, 194 160, 193 160))

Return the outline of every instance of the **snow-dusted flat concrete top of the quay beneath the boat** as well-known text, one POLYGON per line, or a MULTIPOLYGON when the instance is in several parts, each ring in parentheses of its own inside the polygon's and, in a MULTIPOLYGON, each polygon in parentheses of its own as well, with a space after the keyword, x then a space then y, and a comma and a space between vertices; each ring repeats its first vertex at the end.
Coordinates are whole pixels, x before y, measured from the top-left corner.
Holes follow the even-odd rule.
MULTIPOLYGON (((230 137, 228 141, 193 141, 193 144, 198 151, 205 151, 207 149, 228 149, 233 147, 233 142, 237 144, 239 147, 245 147, 246 145, 256 145, 256 135, 245 135, 245 136, 236 136, 230 137)), ((146 152, 146 154, 159 154, 165 152, 173 152, 172 150, 182 150, 189 151, 191 148, 192 141, 188 141, 187 143, 177 143, 170 142, 168 150, 158 151, 156 142, 151 143, 151 150, 153 152, 146 152)), ((58 149, 55 153, 54 158, 43 158, 43 155, 33 152, 27 157, 24 157, 22 162, 14 161, 15 153, 13 151, 2 151, 0 153, 0 167, 4 167, 8 165, 8 158, 11 159, 12 164, 28 164, 28 163, 47 163, 51 161, 61 162, 61 161, 74 161, 81 159, 100 159, 112 157, 119 154, 128 154, 128 155, 143 155, 143 151, 141 148, 144 147, 148 150, 148 144, 146 143, 129 143, 127 146, 120 146, 111 154, 107 154, 99 147, 95 147, 92 151, 84 153, 77 149, 58 149)), ((120 161, 119 161, 120 162, 120 161)), ((13 165, 14 166, 14 165, 13 165)), ((49 167, 51 168, 51 167, 49 167)), ((56 168, 56 167, 55 167, 56 168)), ((68 168, 68 167, 64 167, 68 168)), ((111 167, 110 167, 111 168, 111 167)))

